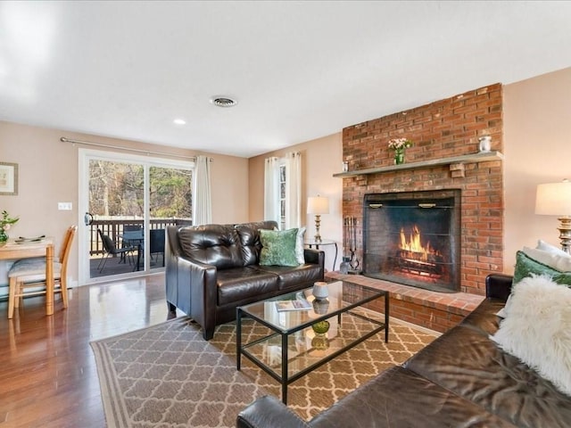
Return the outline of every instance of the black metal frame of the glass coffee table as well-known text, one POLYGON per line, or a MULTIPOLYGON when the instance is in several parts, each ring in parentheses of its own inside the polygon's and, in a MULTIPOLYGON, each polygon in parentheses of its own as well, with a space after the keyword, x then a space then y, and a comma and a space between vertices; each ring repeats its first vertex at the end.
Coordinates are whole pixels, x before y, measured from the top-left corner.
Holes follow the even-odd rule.
MULTIPOLYGON (((359 284, 352 284, 352 286, 360 288, 361 290, 365 291, 368 295, 364 298, 361 298, 359 300, 352 301, 352 302, 343 300, 343 305, 339 309, 334 309, 330 312, 327 311, 327 313, 325 313, 323 315, 318 315, 317 317, 307 319, 303 322, 300 322, 300 323, 294 324, 294 325, 290 325, 288 327, 275 325, 275 324, 269 322, 267 319, 265 319, 265 317, 259 317, 255 313, 252 313, 252 311, 250 311, 249 309, 252 309, 252 307, 255 307, 256 305, 264 304, 265 302, 268 302, 268 301, 294 300, 296 298, 295 296, 299 295, 299 291, 287 293, 287 294, 277 296, 277 297, 273 297, 273 298, 270 298, 267 300, 261 300, 258 302, 251 303, 249 305, 245 305, 245 306, 236 308, 236 368, 237 368, 237 370, 240 370, 240 368, 241 368, 241 363, 242 363, 241 358, 244 355, 244 357, 250 359, 256 366, 259 366, 262 370, 264 370, 266 373, 268 373, 271 377, 276 379, 277 382, 281 383, 282 401, 284 402, 284 404, 287 404, 287 385, 289 385, 290 383, 293 383, 294 381, 296 381, 297 379, 299 379, 303 375, 310 373, 311 371, 315 370, 319 366, 322 366, 323 364, 327 363, 328 361, 330 361, 333 358, 337 357, 338 355, 342 354, 346 350, 350 350, 354 346, 358 345, 360 342, 366 341, 369 337, 373 336, 374 334, 377 334, 380 331, 385 330, 385 342, 388 342, 388 340, 389 340, 389 293, 385 292, 383 290, 369 289, 369 288, 363 287, 359 284), (373 300, 378 300, 381 298, 385 299, 385 322, 381 322, 377 319, 370 318, 370 317, 367 317, 365 315, 362 315, 362 314, 359 314, 359 313, 352 311, 352 309, 362 307, 368 302, 371 302, 373 300), (377 326, 375 328, 373 328, 370 332, 365 333, 362 336, 353 340, 352 342, 347 343, 342 348, 335 350, 334 352, 332 352, 328 355, 325 355, 323 358, 319 359, 314 364, 311 364, 310 366, 303 368, 299 372, 290 375, 288 372, 288 368, 289 368, 288 366, 290 363, 290 359, 288 356, 288 348, 289 348, 288 347, 288 338, 289 338, 289 336, 291 336, 292 334, 299 332, 303 329, 310 328, 311 325, 318 323, 319 321, 324 321, 324 320, 327 320, 327 319, 333 318, 333 317, 337 317, 338 325, 341 326, 341 317, 343 314, 351 314, 353 317, 360 317, 364 320, 367 320, 372 325, 377 325, 377 326), (265 325, 273 333, 270 333, 267 336, 261 337, 260 339, 257 339, 253 342, 248 342, 248 343, 243 344, 242 343, 242 320, 244 317, 252 318, 255 322, 258 322, 261 325, 265 325), (265 341, 269 341, 269 339, 277 337, 278 335, 281 336, 281 375, 277 374, 276 371, 274 371, 269 365, 267 365, 260 358, 257 358, 252 352, 250 352, 248 350, 250 347, 258 345, 258 344, 265 342, 265 341)), ((302 292, 305 292, 305 295, 309 295, 310 290, 311 289, 306 289, 306 290, 302 290, 302 292)), ((310 297, 310 299, 312 299, 312 296, 310 297)), ((292 358, 292 359, 294 359, 294 358, 292 358)))

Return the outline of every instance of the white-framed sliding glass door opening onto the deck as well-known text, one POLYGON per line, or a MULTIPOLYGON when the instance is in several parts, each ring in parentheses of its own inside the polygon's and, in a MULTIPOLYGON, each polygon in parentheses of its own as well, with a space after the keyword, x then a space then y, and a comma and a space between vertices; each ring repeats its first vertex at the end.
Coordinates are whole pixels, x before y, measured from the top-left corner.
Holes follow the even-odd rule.
POLYGON ((165 228, 191 224, 192 162, 79 151, 79 284, 164 268, 165 228))

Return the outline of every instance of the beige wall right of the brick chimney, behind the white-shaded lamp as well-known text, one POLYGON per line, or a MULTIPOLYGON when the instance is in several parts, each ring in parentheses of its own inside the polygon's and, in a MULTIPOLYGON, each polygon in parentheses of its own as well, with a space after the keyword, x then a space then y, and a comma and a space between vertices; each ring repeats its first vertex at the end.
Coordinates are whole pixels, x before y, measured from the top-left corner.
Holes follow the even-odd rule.
POLYGON ((558 219, 534 213, 535 189, 571 179, 570 120, 571 68, 504 87, 506 273, 524 245, 559 246, 558 219))

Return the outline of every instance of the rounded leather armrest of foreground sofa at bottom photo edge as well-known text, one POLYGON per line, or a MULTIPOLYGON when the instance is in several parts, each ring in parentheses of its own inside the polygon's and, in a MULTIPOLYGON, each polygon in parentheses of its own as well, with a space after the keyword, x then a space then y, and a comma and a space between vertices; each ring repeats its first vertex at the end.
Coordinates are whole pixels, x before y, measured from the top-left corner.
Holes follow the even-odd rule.
POLYGON ((310 425, 276 397, 256 399, 236 417, 237 428, 307 428, 310 425))

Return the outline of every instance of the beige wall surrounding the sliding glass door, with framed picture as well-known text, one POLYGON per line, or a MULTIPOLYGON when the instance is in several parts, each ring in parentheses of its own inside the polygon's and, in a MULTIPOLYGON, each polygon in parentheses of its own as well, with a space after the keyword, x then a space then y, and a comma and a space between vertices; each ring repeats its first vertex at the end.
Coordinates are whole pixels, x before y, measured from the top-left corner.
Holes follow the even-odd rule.
MULTIPOLYGON (((119 145, 171 154, 208 154, 211 163, 212 221, 232 223, 248 220, 248 160, 234 156, 190 152, 156 144, 143 144, 103 136, 89 136, 58 129, 38 128, 0 121, 0 161, 18 163, 17 196, 0 195, 0 211, 19 216, 9 235, 53 235, 59 251, 65 229, 79 224, 78 149, 60 137, 119 145), (72 202, 73 210, 57 210, 57 202, 72 202)), ((94 150, 96 147, 81 146, 94 150)), ((0 262, 0 285, 7 284, 8 263, 0 262)), ((70 256, 71 284, 78 281, 78 240, 70 256)), ((0 290, 0 294, 4 294, 0 290)))

